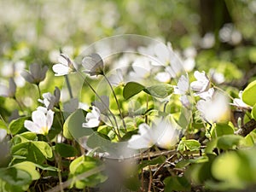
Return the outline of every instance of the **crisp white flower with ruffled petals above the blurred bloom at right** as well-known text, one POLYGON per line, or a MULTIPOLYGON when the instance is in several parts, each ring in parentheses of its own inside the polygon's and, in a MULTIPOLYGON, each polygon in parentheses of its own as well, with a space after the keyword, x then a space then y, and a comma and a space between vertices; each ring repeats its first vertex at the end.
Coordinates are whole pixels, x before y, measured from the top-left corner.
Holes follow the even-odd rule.
POLYGON ((198 72, 195 71, 194 73, 196 81, 193 81, 190 84, 192 90, 197 92, 203 92, 209 89, 210 87, 210 80, 207 78, 207 74, 205 72, 198 72))

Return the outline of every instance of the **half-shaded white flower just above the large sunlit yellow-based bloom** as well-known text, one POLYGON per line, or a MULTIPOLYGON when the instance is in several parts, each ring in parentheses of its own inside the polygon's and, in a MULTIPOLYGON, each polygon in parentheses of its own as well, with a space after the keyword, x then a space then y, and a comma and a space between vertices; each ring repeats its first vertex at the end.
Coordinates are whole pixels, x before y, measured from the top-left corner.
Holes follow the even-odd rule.
POLYGON ((51 93, 47 92, 43 94, 43 100, 38 99, 38 102, 41 102, 44 104, 44 106, 47 109, 53 109, 55 106, 58 105, 61 97, 61 90, 59 88, 55 87, 54 95, 51 93))

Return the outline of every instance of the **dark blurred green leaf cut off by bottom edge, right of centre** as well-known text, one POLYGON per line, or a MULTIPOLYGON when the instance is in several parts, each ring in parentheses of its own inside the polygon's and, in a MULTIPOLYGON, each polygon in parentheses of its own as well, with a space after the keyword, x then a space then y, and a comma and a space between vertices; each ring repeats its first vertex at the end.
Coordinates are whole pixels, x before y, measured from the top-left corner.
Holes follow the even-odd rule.
POLYGON ((166 177, 164 180, 165 191, 190 191, 191 185, 186 177, 166 177))

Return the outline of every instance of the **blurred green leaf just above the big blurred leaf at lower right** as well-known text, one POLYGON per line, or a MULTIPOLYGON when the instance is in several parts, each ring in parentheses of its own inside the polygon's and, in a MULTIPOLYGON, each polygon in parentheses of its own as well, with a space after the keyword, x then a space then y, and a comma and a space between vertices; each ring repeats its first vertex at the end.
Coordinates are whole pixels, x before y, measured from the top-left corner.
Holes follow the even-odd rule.
POLYGON ((224 135, 218 138, 217 147, 224 150, 234 149, 242 139, 243 137, 237 135, 224 135))

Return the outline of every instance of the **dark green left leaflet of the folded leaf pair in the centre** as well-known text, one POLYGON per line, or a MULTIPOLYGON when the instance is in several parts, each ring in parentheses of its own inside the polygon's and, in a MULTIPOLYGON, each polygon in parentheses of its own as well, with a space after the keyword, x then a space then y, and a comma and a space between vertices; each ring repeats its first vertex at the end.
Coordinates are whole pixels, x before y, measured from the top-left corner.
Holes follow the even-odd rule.
POLYGON ((128 82, 127 84, 125 84, 125 87, 123 90, 123 96, 127 100, 127 99, 130 99, 131 96, 137 95, 139 92, 141 92, 144 89, 145 87, 143 86, 143 84, 138 84, 136 82, 128 82))

